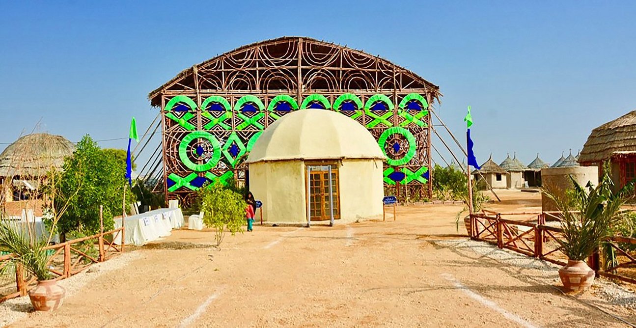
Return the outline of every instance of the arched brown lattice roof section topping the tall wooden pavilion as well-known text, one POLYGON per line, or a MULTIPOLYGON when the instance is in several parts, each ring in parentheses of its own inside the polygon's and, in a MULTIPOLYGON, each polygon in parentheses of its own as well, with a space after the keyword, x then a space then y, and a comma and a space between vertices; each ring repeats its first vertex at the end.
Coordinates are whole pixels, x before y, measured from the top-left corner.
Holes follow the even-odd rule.
POLYGON ((247 44, 180 72, 149 93, 162 106, 162 93, 298 90, 427 90, 432 102, 439 86, 388 60, 317 39, 286 36, 247 44), (298 62, 301 60, 301 69, 298 62), (260 74, 252 74, 258 71, 260 74))

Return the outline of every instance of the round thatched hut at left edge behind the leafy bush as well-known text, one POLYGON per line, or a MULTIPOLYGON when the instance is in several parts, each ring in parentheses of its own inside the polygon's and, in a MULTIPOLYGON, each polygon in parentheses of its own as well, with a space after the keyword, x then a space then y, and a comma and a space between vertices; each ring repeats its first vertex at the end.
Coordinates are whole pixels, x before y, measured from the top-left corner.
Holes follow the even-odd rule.
POLYGON ((24 135, 0 154, 0 203, 38 198, 43 177, 61 170, 64 158, 75 146, 60 135, 33 133, 24 135))

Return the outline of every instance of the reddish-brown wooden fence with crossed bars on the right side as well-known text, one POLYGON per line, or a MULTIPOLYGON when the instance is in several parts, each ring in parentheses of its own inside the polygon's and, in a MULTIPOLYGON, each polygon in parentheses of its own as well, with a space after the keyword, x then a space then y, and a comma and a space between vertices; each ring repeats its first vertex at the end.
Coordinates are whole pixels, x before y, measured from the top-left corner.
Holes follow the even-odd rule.
MULTIPOLYGON (((503 214, 484 210, 470 215, 466 228, 473 240, 565 265, 567 257, 560 252, 562 229, 546 225, 546 219, 557 221, 560 217, 558 212, 503 214)), ((633 248, 636 250, 636 238, 612 236, 606 243, 616 252, 618 263, 604 265, 607 259, 600 255, 604 252, 598 250, 588 258, 590 268, 597 275, 636 284, 636 254, 630 250, 630 245, 635 245, 633 248)))

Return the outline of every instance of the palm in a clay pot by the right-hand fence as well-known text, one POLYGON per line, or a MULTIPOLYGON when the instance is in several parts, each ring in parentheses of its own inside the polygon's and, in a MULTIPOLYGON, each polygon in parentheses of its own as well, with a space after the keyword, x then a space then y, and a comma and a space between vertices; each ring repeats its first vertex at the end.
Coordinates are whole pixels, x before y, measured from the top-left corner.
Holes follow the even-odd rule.
POLYGON ((628 200, 628 195, 632 195, 633 184, 613 193, 609 168, 604 172, 598 186, 588 182, 583 187, 570 177, 574 184, 572 190, 559 193, 554 188, 543 189, 562 216, 561 250, 568 262, 559 270, 559 276, 567 290, 584 290, 591 286, 595 273, 585 260, 611 236, 612 226, 617 226, 625 218, 621 206, 628 200))

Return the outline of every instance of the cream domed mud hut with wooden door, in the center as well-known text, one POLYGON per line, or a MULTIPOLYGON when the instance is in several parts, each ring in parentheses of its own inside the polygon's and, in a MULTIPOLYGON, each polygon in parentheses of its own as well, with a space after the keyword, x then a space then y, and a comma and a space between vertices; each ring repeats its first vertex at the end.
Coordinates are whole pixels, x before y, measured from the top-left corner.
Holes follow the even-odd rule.
POLYGON ((382 216, 384 159, 363 125, 308 109, 266 128, 246 163, 264 221, 356 221, 382 216))

